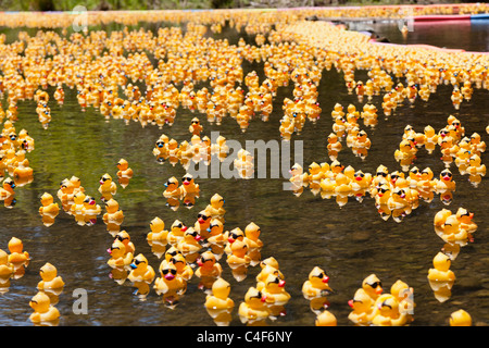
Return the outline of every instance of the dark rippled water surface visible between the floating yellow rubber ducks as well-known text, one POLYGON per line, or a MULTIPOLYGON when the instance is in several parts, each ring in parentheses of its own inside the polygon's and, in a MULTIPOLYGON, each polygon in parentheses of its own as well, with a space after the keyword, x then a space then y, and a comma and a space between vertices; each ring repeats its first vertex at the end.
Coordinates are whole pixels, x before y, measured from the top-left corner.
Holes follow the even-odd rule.
MULTIPOLYGON (((461 24, 460 30, 450 30, 450 35, 466 35, 465 28, 465 24, 461 24)), ((398 40, 387 34, 398 33, 397 27, 389 28, 389 25, 383 24, 376 26, 376 30, 379 34, 386 33, 384 35, 391 38, 391 41, 398 40)), ((417 34, 416 27, 414 33, 418 36, 412 39, 409 36, 409 40, 440 42, 447 47, 449 42, 469 41, 469 46, 464 48, 487 50, 487 27, 482 29, 482 34, 477 35, 477 41, 449 37, 446 42, 442 40, 448 32, 436 30, 438 36, 431 37, 422 35, 421 30, 417 34)), ((2 32, 5 33, 7 29, 2 32)), ((230 44, 238 40, 238 34, 229 28, 224 28, 218 37, 228 37, 230 44)), ((263 78, 263 64, 243 64, 244 73, 255 70, 263 78)), ((364 72, 360 72, 358 78, 365 80, 366 74, 362 74, 364 72)), ((404 103, 388 120, 379 112, 378 125, 375 129, 367 129, 372 148, 366 160, 362 161, 350 149, 343 149, 338 160, 344 165, 368 173, 375 173, 379 164, 386 165, 390 172, 400 170, 393 153, 405 125, 411 124, 418 132, 426 125, 438 130, 446 125, 450 114, 462 122, 468 135, 477 132, 488 142, 489 137, 485 132, 489 116, 487 90, 475 89, 472 101, 463 102, 459 111, 451 105, 451 91, 449 86, 440 86, 428 103, 416 100, 414 108, 404 103)), ((49 89, 49 92, 52 95, 53 90, 49 89)), ((50 102, 52 122, 45 130, 38 122, 34 101, 21 102, 20 120, 15 127, 26 128, 36 141, 36 149, 28 153, 35 179, 16 189, 15 207, 0 209, 0 248, 7 250, 12 236, 21 238, 32 261, 25 274, 12 279, 8 291, 0 296, 0 325, 32 325, 28 320, 32 312, 28 302, 37 293, 39 269, 46 262, 58 268, 58 273, 66 284, 57 304, 61 312, 60 325, 215 325, 203 307, 205 294, 198 288, 199 279, 196 277, 189 282, 187 293, 174 309, 166 307, 153 290, 142 301, 133 294, 135 288, 129 282, 123 285, 115 283, 110 277, 111 269, 106 264, 109 256, 105 251, 113 237, 106 232, 101 216, 93 226, 78 226, 73 216, 61 211, 52 226, 46 227, 42 224, 38 208, 43 192, 55 197, 60 182, 75 175, 82 179, 86 191, 97 197, 100 203, 97 191, 99 178, 104 173, 115 177, 115 165, 121 158, 129 162, 135 173, 129 185, 125 189, 118 187, 114 197, 125 214, 122 227, 129 233, 136 253, 143 253, 155 270, 161 260, 146 240, 150 221, 155 216, 161 217, 167 228, 176 219, 188 225, 193 224, 197 214, 217 192, 225 198, 225 229, 243 229, 252 221, 260 225, 264 244, 262 258, 274 257, 279 262, 287 282, 286 289, 291 295, 286 306, 286 315, 269 321, 271 325, 314 325, 316 315, 302 296, 301 287, 316 265, 323 268, 329 276, 334 294, 328 296, 328 309, 336 315, 339 325, 352 325, 348 320, 351 310, 348 301, 361 286, 363 278, 371 273, 383 281, 386 290, 397 279, 402 279, 414 288, 416 307, 412 325, 448 325, 450 314, 460 308, 472 314, 474 323, 489 324, 489 231, 484 221, 488 211, 488 182, 484 177, 475 188, 467 176, 459 174, 454 164, 451 170, 456 191, 450 206, 443 204, 436 195, 429 203, 421 201, 419 207, 400 223, 393 219, 383 220, 374 199, 368 195, 362 202, 350 198, 347 204, 339 207, 334 198, 323 199, 319 195, 314 196, 308 188, 296 197, 291 191, 283 189, 286 178, 198 178, 196 182, 200 185, 201 195, 192 209, 179 207, 174 211, 166 206, 162 196, 163 184, 171 176, 180 178, 185 170, 179 164, 172 166, 167 162, 160 164, 155 161, 152 149, 162 133, 179 142, 189 140, 190 120, 199 116, 204 127, 203 134, 208 136, 211 132, 220 132, 227 139, 236 139, 243 146, 246 140, 279 140, 277 128, 283 116, 280 107, 284 98, 290 98, 291 92, 290 86, 281 87, 274 100, 275 111, 269 122, 252 121, 248 132, 243 134, 235 120, 227 117, 221 126, 211 125, 205 122, 204 115, 192 114, 183 108, 178 109, 173 127, 165 127, 163 130, 156 126, 142 128, 139 123, 126 125, 121 120, 106 122, 93 109, 80 112, 75 91, 70 89, 66 89, 63 107, 50 102), (450 299, 440 303, 427 281, 432 258, 443 246, 434 231, 432 220, 442 208, 454 212, 460 207, 475 213, 478 231, 474 241, 462 248, 453 261, 451 269, 456 281, 450 299), (76 299, 73 291, 78 288, 87 290, 87 314, 75 314, 72 310, 76 299)), ((302 134, 293 137, 293 140, 303 141, 304 166, 312 162, 330 162, 326 137, 331 132, 329 113, 334 104, 353 103, 358 109, 363 105, 359 103, 356 96, 348 95, 342 76, 335 70, 323 73, 318 92, 324 116, 315 125, 308 123, 302 134)), ((373 100, 379 110, 380 98, 375 97, 373 100)), ((419 169, 429 166, 435 175, 444 167, 437 151, 428 154, 421 149, 417 157, 415 164, 419 169)), ((482 162, 489 164, 484 154, 482 162)), ((237 315, 237 307, 247 289, 255 285, 259 266, 250 268, 247 277, 237 282, 225 259, 221 260, 221 264, 223 277, 230 283, 230 297, 236 303, 230 325, 242 325, 237 315)))

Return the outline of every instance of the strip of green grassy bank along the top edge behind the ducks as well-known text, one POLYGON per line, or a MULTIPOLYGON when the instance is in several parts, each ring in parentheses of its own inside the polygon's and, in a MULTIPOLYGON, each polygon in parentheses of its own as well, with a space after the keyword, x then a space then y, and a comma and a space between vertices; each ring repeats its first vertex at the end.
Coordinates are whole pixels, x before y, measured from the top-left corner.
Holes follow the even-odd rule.
POLYGON ((183 10, 234 8, 294 8, 359 4, 427 4, 474 1, 429 0, 0 0, 2 11, 72 11, 76 5, 88 10, 183 10))

